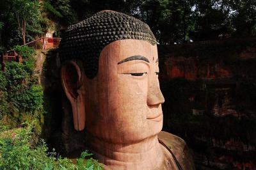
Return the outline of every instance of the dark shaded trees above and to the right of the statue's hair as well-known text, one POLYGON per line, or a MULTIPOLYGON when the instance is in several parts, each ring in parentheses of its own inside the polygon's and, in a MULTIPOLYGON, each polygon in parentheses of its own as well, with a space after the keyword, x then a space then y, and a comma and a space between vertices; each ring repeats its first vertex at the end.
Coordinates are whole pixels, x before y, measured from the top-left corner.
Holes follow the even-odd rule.
POLYGON ((160 44, 256 34, 256 1, 245 0, 54 0, 62 23, 73 24, 100 10, 145 21, 160 44), (83 9, 83 10, 81 10, 83 9))

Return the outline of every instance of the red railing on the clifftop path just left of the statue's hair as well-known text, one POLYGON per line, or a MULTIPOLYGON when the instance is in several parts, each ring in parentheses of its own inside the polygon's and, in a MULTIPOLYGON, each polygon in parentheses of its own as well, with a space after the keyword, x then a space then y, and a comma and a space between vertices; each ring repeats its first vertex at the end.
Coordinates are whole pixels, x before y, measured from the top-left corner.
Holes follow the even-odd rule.
POLYGON ((60 40, 61 38, 42 37, 32 42, 26 43, 25 45, 28 47, 33 47, 34 49, 43 49, 43 50, 54 49, 58 47, 58 45, 60 44, 60 40))

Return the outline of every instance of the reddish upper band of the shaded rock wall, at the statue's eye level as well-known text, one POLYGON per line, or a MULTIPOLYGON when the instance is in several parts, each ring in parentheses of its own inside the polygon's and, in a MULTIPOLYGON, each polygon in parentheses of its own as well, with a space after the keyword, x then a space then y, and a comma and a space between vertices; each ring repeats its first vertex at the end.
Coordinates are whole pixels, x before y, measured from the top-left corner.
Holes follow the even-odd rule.
POLYGON ((227 58, 221 56, 221 54, 215 58, 204 56, 184 57, 169 54, 168 58, 164 59, 164 65, 161 67, 161 80, 168 81, 175 78, 189 80, 220 79, 248 74, 246 66, 244 68, 244 66, 237 65, 236 62, 256 59, 256 47, 248 47, 236 55, 234 63, 232 56, 227 58))

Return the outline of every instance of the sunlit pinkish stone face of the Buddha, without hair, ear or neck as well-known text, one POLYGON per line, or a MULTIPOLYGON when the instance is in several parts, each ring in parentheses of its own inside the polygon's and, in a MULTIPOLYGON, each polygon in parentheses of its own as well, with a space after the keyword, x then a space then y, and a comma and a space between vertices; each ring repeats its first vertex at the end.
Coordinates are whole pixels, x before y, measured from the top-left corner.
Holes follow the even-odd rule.
POLYGON ((99 72, 84 79, 86 130, 111 143, 137 143, 163 127, 157 46, 118 40, 100 53, 99 72))

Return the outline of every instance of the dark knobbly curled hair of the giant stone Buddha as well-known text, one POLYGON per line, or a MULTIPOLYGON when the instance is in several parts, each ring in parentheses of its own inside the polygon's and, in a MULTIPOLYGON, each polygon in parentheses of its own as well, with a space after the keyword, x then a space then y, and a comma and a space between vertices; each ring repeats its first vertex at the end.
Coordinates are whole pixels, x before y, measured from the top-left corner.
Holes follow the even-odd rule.
POLYGON ((60 43, 61 62, 81 60, 90 79, 99 70, 100 52, 118 40, 143 40, 156 45, 147 24, 129 15, 113 11, 95 13, 92 17, 68 27, 60 43))

